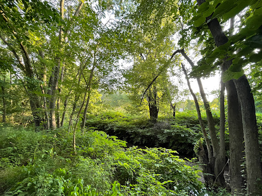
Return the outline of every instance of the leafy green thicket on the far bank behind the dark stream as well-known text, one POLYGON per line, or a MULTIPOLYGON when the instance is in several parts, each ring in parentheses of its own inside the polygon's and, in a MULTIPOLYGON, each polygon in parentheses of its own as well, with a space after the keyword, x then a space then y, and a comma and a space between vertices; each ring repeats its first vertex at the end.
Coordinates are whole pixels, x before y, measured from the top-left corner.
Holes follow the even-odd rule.
MULTIPOLYGON (((203 120, 207 126, 205 116, 203 120)), ((219 116, 214 115, 214 120, 218 134, 219 116)), ((115 135, 130 145, 161 146, 189 157, 194 156, 194 144, 203 137, 195 111, 177 112, 176 118, 160 116, 157 123, 146 117, 108 111, 90 115, 86 127, 115 135)))

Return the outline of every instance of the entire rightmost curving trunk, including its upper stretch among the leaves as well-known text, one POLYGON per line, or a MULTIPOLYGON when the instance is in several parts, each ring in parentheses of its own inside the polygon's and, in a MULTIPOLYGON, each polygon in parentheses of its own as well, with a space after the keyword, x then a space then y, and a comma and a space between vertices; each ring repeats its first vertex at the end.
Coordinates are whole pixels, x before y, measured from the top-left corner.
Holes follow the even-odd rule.
MULTIPOLYGON (((201 5, 202 3, 205 2, 205 0, 197 0, 197 2, 199 5, 201 5)), ((210 17, 211 16, 209 16, 207 20, 210 19, 210 17)), ((220 26, 220 23, 216 18, 208 22, 207 25, 214 38, 217 47, 228 42, 228 38, 224 34, 220 26)), ((227 58, 225 58, 225 61, 226 60, 227 58)), ((232 60, 227 61, 227 63, 229 65, 232 64, 232 60)), ((228 68, 228 66, 226 66, 226 68, 228 68)), ((237 91, 239 102, 241 104, 241 111, 242 111, 243 131, 244 131, 245 150, 246 150, 247 194, 254 195, 256 191, 259 190, 259 185, 261 185, 261 177, 262 177, 254 98, 251 93, 251 88, 249 86, 248 80, 245 75, 239 78, 238 80, 233 80, 233 82, 235 84, 235 88, 237 91)), ((227 89, 227 92, 229 92, 229 89, 227 89)), ((229 110, 230 109, 228 109, 228 111, 229 110)), ((235 115, 238 115, 238 113, 236 113, 235 115)), ((229 132, 230 131, 231 130, 229 130, 229 132)), ((235 136, 236 135, 234 135, 234 137, 235 136)))

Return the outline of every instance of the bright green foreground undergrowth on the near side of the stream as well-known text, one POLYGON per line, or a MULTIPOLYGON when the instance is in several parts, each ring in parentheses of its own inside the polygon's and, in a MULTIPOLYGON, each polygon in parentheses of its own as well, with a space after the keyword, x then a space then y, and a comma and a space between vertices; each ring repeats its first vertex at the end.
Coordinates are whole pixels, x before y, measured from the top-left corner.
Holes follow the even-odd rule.
POLYGON ((207 192, 198 180, 199 167, 186 165, 176 151, 125 148, 125 141, 95 130, 83 134, 78 130, 74 151, 73 135, 67 129, 35 132, 30 128, 1 126, 2 195, 204 195, 207 192))

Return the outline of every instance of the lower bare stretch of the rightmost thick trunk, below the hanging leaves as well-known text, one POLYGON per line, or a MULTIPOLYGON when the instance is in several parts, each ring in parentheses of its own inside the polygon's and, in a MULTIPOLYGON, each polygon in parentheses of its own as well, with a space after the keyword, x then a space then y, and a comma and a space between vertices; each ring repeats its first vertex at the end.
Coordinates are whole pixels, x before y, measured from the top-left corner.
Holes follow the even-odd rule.
POLYGON ((261 188, 262 175, 254 97, 245 75, 233 81, 242 112, 247 167, 247 193, 248 195, 256 195, 261 193, 259 187, 261 188))

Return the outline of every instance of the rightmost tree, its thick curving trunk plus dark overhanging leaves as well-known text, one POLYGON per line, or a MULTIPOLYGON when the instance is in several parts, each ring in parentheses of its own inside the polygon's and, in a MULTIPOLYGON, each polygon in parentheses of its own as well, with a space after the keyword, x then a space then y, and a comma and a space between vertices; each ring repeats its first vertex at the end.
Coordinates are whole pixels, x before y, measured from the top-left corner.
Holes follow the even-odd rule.
MULTIPOLYGON (((226 37, 226 35, 224 34, 224 32, 222 31, 219 20, 217 18, 220 16, 223 16, 224 20, 229 19, 230 16, 234 16, 235 14, 239 13, 247 6, 258 6, 259 2, 256 3, 256 1, 251 1, 251 2, 236 1, 234 2, 234 5, 236 6, 236 8, 230 11, 224 10, 225 6, 229 4, 229 1, 225 1, 221 5, 218 5, 217 7, 214 5, 210 5, 208 2, 201 1, 201 0, 198 1, 198 4, 199 6, 202 5, 201 6, 202 9, 209 7, 212 9, 212 12, 214 11, 213 14, 210 13, 210 16, 206 16, 207 25, 208 25, 209 30, 212 33, 216 46, 222 48, 230 44, 230 42, 228 38, 226 37)), ((254 19, 259 17, 261 13, 258 11, 257 7, 254 7, 253 9, 254 9, 253 10, 254 12, 253 12, 253 15, 251 15, 253 19, 251 21, 251 19, 249 18, 249 20, 246 21, 247 28, 246 28, 245 33, 247 32, 251 33, 254 29, 258 29, 261 25, 260 23, 261 21, 259 22, 254 21, 254 19)), ((201 17, 204 18, 203 22, 205 22, 206 18, 203 16, 201 17)), ((200 25, 203 22, 200 22, 200 25)), ((199 23, 196 24, 196 26, 200 26, 200 25, 199 23)), ((238 33, 238 36, 242 36, 242 35, 243 35, 242 31, 238 33)), ((255 36, 258 36, 258 35, 255 35, 255 36)), ((254 38, 255 37, 253 37, 253 39, 254 38)), ((239 45, 234 44, 234 47, 237 48, 239 47, 239 45)), ((250 50, 250 48, 248 49, 250 50)), ((251 50, 252 50, 252 47, 251 47, 251 50)), ((254 57, 257 57, 257 55, 255 55, 254 57)), ((237 96, 241 104, 243 131, 244 131, 244 138, 245 138, 246 164, 247 164, 247 192, 249 195, 252 195, 257 192, 258 186, 261 183, 260 181, 261 181, 262 176, 261 176, 261 165, 260 165, 260 159, 259 159, 260 155, 259 155, 259 148, 258 148, 258 133, 257 133, 257 127, 256 127, 254 99, 253 99, 251 88, 249 86, 246 76, 245 75, 242 76, 244 74, 244 72, 242 71, 242 66, 245 64, 246 60, 243 60, 241 57, 238 57, 232 61, 232 58, 230 59, 226 56, 224 56, 222 59, 224 61, 222 65, 222 70, 225 72, 224 81, 228 80, 228 82, 226 82, 227 92, 228 93, 234 92, 235 94, 234 99, 232 99, 232 97, 228 95, 228 104, 229 104, 228 112, 233 112, 233 109, 230 107, 230 101, 232 100, 232 102, 237 103, 236 102, 237 96), (238 64, 236 64, 236 62, 238 64), (232 66, 230 66, 231 64, 232 66), (236 72, 233 72, 232 74, 232 71, 236 70, 235 69, 236 67, 238 70, 239 68, 241 68, 241 71, 236 71, 236 72), (230 81, 231 78, 233 78, 232 81, 230 81), (236 90, 233 91, 232 88, 234 86, 236 90), (236 96, 236 91, 237 91, 237 96, 236 96)), ((253 61, 253 58, 249 59, 249 61, 253 61)), ((236 112, 232 114, 232 117, 237 116, 238 114, 239 112, 236 112)), ((237 134, 234 132, 233 135, 236 136, 237 134)), ((230 143, 232 143, 232 141, 230 143)), ((237 192, 239 192, 239 190, 237 190, 237 192)))

